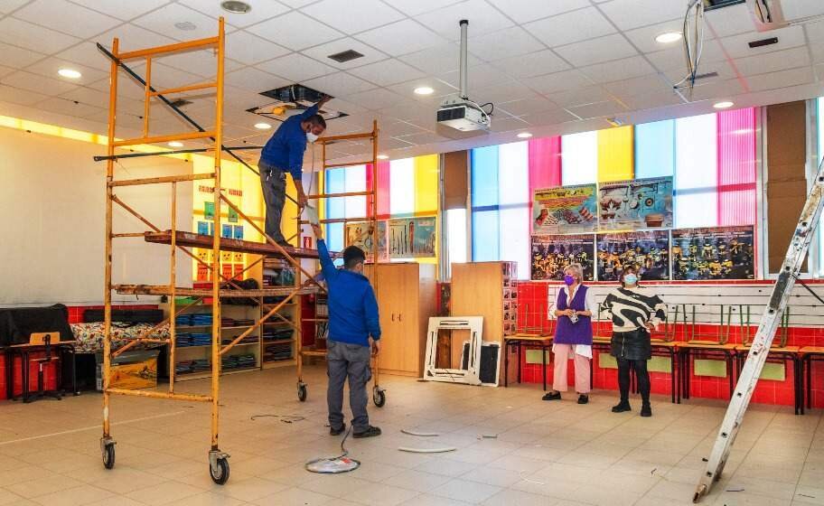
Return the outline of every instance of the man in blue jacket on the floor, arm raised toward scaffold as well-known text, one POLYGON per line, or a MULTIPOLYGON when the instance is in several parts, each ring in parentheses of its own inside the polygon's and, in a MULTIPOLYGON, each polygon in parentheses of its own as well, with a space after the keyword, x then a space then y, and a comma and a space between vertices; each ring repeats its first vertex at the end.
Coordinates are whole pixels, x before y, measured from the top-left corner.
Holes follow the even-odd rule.
POLYGON ((372 377, 371 353, 377 355, 380 341, 378 301, 369 278, 363 276, 366 255, 357 246, 343 250, 343 268, 332 264, 321 227, 312 225, 317 238, 323 278, 329 290, 329 338, 326 367, 329 388, 329 434, 338 436, 346 429, 343 423, 343 383, 349 377, 349 406, 352 411, 352 437, 380 436, 380 429, 370 426, 366 411, 366 384, 372 377))

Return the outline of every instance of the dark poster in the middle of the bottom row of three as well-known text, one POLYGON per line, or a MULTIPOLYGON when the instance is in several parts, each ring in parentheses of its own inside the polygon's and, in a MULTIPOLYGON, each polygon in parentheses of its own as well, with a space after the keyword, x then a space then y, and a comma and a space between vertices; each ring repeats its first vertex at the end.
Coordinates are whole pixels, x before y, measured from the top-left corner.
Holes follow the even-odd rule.
POLYGON ((618 281, 623 268, 638 269, 641 280, 670 279, 670 232, 644 230, 598 234, 598 281, 618 281))

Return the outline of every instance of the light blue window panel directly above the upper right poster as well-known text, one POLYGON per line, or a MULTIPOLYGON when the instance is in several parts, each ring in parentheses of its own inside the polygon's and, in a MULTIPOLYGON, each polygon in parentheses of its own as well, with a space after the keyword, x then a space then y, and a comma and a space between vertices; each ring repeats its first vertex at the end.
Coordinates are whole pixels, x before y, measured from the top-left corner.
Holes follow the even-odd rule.
POLYGON ((661 177, 675 173, 675 120, 635 126, 635 177, 661 177))

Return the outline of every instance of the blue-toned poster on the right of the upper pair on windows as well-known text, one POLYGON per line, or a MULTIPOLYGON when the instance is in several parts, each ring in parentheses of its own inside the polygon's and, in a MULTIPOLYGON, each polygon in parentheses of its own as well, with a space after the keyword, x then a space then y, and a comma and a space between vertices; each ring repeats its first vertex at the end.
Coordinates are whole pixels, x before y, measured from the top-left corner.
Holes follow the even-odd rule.
POLYGON ((672 227, 672 177, 601 183, 598 230, 672 227))

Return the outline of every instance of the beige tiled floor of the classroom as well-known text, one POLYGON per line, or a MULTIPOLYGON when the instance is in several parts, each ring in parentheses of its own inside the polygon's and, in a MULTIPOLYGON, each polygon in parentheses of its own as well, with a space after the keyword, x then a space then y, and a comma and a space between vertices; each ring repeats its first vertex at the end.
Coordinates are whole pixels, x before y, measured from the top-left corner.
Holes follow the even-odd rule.
MULTIPOLYGON (((309 399, 294 370, 228 376, 221 382, 220 447, 231 454, 225 486, 211 483, 209 410, 202 404, 115 398, 117 466, 103 468, 100 397, 0 402, 0 506, 311 505, 665 506, 689 504, 725 406, 656 398, 655 416, 615 415, 614 392, 579 406, 542 402, 534 386, 482 389, 383 377, 384 408, 370 405, 384 435, 348 440, 360 469, 319 475, 314 457, 338 452, 325 424, 323 369, 309 370, 309 399), (299 415, 287 424, 275 417, 299 415), (400 429, 440 433, 405 436, 400 429), (497 438, 480 438, 497 435, 497 438), (398 446, 441 447, 407 454, 398 446)), ((206 381, 179 384, 205 392, 206 381)), ((821 414, 749 410, 726 473, 707 504, 824 504, 821 414)))

